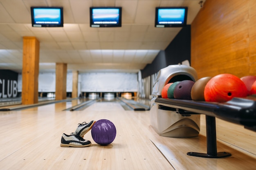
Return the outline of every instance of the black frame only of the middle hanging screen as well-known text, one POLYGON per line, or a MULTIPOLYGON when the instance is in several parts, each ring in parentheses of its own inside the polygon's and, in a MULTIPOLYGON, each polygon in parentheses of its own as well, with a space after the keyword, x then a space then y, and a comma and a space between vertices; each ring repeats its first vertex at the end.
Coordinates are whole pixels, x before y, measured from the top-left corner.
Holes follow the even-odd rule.
POLYGON ((122 26, 122 7, 90 7, 90 27, 121 27, 122 26), (119 21, 117 24, 93 24, 93 9, 119 9, 119 21))

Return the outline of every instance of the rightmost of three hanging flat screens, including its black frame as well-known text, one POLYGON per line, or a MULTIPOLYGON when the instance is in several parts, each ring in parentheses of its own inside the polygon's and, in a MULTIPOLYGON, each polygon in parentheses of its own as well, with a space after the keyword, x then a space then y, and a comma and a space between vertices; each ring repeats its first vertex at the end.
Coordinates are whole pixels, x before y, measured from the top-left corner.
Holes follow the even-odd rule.
POLYGON ((155 27, 186 26, 187 10, 187 7, 157 7, 155 27))

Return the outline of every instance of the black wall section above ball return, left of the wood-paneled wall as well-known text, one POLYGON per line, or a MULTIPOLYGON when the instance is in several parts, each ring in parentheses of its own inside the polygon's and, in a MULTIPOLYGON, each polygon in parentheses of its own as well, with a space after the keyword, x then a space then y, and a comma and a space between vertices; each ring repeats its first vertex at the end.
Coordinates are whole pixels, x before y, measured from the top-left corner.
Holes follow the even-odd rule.
MULTIPOLYGON (((161 28, 159 28, 161 29, 161 28)), ((170 28, 171 29, 171 28, 170 28)), ((191 56, 191 26, 183 27, 165 50, 161 50, 151 64, 141 70, 141 77, 145 78, 157 73, 168 65, 189 60, 191 56)))

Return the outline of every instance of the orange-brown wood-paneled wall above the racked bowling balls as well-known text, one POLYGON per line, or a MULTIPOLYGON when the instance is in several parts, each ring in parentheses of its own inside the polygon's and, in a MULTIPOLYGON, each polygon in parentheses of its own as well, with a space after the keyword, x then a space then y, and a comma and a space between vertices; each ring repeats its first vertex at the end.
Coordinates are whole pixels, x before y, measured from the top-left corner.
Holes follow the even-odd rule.
POLYGON ((256 76, 256 0, 206 0, 191 24, 198 78, 256 76))

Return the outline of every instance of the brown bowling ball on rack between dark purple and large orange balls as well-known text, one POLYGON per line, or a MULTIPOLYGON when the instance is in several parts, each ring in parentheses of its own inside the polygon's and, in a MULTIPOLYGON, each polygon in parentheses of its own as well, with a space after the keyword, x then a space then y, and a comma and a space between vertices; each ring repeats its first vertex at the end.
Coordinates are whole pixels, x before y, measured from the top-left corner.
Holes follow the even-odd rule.
POLYGON ((204 87, 212 77, 203 77, 195 82, 191 89, 191 99, 197 101, 205 101, 204 87))

